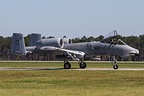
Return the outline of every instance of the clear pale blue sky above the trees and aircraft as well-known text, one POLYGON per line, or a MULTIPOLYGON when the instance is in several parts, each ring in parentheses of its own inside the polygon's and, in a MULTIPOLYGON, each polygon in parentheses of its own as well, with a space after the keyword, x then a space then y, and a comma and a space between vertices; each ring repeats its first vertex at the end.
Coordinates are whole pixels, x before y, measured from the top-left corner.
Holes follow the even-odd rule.
POLYGON ((0 36, 144 34, 144 0, 0 0, 0 36))

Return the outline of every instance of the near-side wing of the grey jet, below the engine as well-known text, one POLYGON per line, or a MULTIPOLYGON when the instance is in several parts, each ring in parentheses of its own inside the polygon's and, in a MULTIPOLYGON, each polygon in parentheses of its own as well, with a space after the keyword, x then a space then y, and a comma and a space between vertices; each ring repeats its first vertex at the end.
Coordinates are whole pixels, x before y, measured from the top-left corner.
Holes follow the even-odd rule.
POLYGON ((66 52, 67 54, 75 54, 79 56, 84 56, 85 53, 82 51, 76 51, 76 50, 68 50, 68 49, 63 49, 63 48, 58 48, 58 47, 53 47, 53 46, 44 46, 41 47, 40 50, 45 50, 49 52, 66 52))

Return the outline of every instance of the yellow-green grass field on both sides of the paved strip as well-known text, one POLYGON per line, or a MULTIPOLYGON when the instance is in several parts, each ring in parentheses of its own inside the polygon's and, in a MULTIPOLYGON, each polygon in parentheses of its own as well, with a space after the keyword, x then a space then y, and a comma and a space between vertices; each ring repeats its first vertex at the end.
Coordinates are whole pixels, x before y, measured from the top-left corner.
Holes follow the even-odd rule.
MULTIPOLYGON (((78 68, 72 62, 72 68, 78 68)), ((63 62, 0 62, 5 68, 63 68, 63 62)), ((89 62, 88 68, 111 68, 89 62)), ((144 68, 142 62, 119 62, 122 68, 144 68)), ((0 71, 0 96, 144 96, 144 71, 15 70, 0 71)))

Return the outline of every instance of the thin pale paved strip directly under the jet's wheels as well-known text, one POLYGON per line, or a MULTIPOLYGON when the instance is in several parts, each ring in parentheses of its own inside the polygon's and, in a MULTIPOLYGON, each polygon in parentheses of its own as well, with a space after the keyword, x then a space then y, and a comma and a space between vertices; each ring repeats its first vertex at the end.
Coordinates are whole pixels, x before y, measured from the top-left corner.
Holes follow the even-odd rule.
MULTIPOLYGON (((64 69, 64 68, 0 68, 0 70, 115 70, 113 68, 86 68, 86 69, 64 69)), ((144 71, 144 68, 119 68, 117 70, 144 71)))

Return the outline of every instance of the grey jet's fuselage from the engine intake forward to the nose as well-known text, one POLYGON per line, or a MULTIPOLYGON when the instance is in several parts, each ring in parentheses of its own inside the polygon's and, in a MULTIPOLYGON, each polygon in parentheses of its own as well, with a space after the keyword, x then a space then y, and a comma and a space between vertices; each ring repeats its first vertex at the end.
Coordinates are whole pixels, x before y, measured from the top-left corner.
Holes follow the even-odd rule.
POLYGON ((115 55, 128 56, 131 52, 138 52, 137 49, 128 45, 114 45, 101 42, 85 42, 65 44, 64 49, 78 50, 85 52, 85 55, 115 55))

